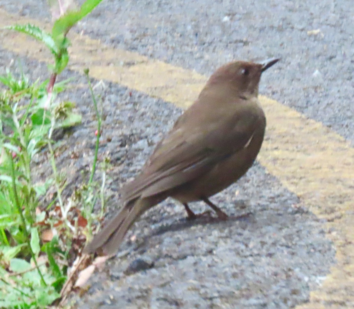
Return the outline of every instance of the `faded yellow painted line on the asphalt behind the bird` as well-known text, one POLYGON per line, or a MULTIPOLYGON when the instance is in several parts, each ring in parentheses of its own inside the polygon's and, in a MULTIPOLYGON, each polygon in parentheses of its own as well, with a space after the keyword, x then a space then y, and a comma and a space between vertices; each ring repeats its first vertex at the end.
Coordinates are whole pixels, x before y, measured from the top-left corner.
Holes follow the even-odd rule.
MULTIPOLYGON (((0 27, 34 23, 0 10, 0 27)), ((177 106, 197 97, 206 77, 196 72, 113 49, 85 35, 71 34, 69 68, 125 85, 177 106)), ((48 61, 42 46, 14 32, 0 33, 2 48, 39 61, 48 61)), ((284 72, 286 74, 286 72, 284 72)), ((297 308, 354 307, 354 149, 343 137, 295 110, 260 96, 267 116, 267 134, 259 162, 304 206, 326 219, 327 236, 336 246, 337 264, 322 286, 310 292, 308 303, 297 308)))

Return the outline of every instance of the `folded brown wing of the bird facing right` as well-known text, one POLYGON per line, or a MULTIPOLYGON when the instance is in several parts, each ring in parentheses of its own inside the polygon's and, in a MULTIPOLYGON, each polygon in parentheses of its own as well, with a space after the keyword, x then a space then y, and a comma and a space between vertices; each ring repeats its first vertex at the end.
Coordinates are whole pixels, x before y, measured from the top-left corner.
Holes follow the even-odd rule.
POLYGON ((156 195, 207 173, 247 145, 259 117, 245 109, 199 128, 174 127, 156 146, 142 173, 124 186, 124 201, 156 195))

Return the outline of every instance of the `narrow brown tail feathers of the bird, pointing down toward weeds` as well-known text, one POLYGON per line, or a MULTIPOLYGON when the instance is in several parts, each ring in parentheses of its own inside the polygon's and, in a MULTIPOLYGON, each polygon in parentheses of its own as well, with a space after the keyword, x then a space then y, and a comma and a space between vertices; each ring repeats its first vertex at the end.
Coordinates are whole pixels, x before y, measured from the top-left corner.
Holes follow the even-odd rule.
POLYGON ((131 225, 149 208, 162 199, 137 198, 128 202, 118 215, 112 218, 92 241, 84 248, 84 253, 99 252, 104 255, 116 253, 131 225))

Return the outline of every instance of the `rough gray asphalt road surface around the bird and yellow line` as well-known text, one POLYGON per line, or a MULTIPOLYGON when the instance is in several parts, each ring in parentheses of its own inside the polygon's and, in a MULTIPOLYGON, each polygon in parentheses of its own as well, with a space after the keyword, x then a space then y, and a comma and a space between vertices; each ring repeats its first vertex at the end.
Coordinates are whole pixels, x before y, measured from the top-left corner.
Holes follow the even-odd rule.
MULTIPOLYGON (((17 2, 2 0, 0 7, 48 18, 39 2, 17 2)), ((103 1, 75 30, 204 74, 234 58, 281 56, 278 67, 262 77, 261 93, 354 142, 353 10, 345 0, 103 1), (316 29, 318 34, 308 33, 316 29)), ((0 55, 2 65, 14 57, 0 55)), ((45 72, 43 65, 22 62, 33 78, 45 72)), ((138 172, 181 110, 136 91, 130 97, 129 89, 116 84, 99 91, 107 116, 100 151, 109 152, 115 165, 108 180, 109 217, 119 207, 120 186, 138 172)), ((66 95, 85 119, 63 135, 67 148, 58 159, 75 179, 90 163, 95 123, 86 88, 66 95), (84 155, 70 159, 73 149, 84 155)), ((252 215, 192 223, 180 205, 161 203, 93 276, 87 294, 73 296, 75 307, 289 308, 306 302, 335 263, 321 222, 259 164, 212 200, 233 216, 252 215)), ((202 203, 192 207, 206 209, 202 203)))

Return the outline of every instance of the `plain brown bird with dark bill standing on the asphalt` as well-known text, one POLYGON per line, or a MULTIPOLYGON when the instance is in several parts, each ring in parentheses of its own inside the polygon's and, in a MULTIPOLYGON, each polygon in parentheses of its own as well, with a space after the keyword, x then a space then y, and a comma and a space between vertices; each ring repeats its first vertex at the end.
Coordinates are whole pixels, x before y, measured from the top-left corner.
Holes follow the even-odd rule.
POLYGON ((278 61, 231 62, 212 74, 198 99, 157 144, 141 174, 123 187, 120 213, 84 252, 114 254, 130 226, 167 197, 181 202, 190 219, 197 216, 188 203, 200 200, 227 219, 209 197, 238 180, 255 161, 265 130, 257 99, 259 79, 278 61))

